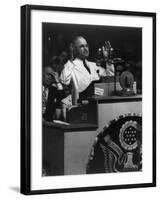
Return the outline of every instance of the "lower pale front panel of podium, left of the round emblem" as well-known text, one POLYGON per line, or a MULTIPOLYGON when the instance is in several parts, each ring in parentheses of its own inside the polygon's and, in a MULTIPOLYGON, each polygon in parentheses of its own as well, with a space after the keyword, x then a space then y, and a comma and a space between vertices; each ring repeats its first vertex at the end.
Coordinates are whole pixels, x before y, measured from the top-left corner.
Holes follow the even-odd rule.
POLYGON ((64 137, 64 174, 85 174, 96 131, 66 132, 64 137))

